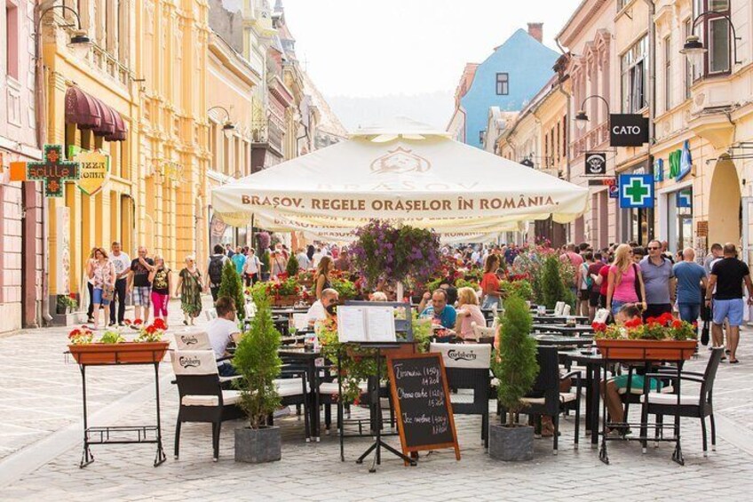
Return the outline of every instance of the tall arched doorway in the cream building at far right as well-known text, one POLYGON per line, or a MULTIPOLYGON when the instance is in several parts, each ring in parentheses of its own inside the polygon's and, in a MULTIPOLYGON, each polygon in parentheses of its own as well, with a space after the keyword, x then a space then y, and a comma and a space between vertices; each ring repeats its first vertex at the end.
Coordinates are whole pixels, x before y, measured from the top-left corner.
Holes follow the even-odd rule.
POLYGON ((734 163, 720 159, 714 167, 709 195, 709 245, 740 243, 740 179, 734 163))

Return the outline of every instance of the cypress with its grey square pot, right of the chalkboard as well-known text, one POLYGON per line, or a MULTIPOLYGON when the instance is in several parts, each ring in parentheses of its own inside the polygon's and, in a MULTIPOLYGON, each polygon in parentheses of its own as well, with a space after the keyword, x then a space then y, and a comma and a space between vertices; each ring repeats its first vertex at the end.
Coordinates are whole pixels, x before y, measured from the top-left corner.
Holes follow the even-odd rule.
POLYGON ((489 456, 530 460, 534 456, 534 427, 518 424, 515 418, 523 410, 521 398, 530 392, 539 372, 536 341, 530 336, 533 321, 526 301, 517 295, 505 300, 501 317, 492 371, 499 380, 497 400, 503 408, 503 423, 489 426, 489 456))

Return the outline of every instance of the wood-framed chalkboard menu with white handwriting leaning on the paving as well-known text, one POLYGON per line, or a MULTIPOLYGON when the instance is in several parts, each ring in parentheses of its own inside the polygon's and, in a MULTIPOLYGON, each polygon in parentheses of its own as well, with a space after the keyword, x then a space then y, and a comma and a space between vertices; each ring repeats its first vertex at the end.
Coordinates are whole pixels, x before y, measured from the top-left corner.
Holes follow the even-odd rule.
POLYGON ((389 356, 387 371, 403 453, 455 448, 460 460, 442 356, 389 356))

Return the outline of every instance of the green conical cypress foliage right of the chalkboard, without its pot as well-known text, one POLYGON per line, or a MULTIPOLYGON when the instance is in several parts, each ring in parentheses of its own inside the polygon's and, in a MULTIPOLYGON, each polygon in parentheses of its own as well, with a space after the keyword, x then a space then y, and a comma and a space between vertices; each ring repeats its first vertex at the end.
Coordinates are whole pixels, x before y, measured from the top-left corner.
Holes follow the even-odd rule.
POLYGON ((492 371, 499 379, 497 396, 507 410, 507 425, 522 409, 520 399, 530 392, 539 373, 536 341, 530 336, 533 320, 525 300, 511 295, 504 302, 499 348, 492 357, 492 371))

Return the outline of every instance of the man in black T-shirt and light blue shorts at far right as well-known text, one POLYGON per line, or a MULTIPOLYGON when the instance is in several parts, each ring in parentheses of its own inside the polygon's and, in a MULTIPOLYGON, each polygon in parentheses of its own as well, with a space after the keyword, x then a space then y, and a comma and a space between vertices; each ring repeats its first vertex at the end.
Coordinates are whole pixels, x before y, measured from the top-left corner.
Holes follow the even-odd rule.
POLYGON ((737 248, 733 243, 726 243, 724 258, 711 268, 709 287, 706 290, 706 305, 711 303, 711 291, 714 292, 714 319, 712 332, 714 347, 724 345, 722 325, 725 319, 729 323, 727 330, 727 348, 730 351, 730 364, 738 363, 737 345, 740 343, 740 325, 742 324, 745 302, 742 300, 742 283, 748 288, 748 304, 753 305, 753 283, 750 282, 748 265, 737 259, 737 248))

